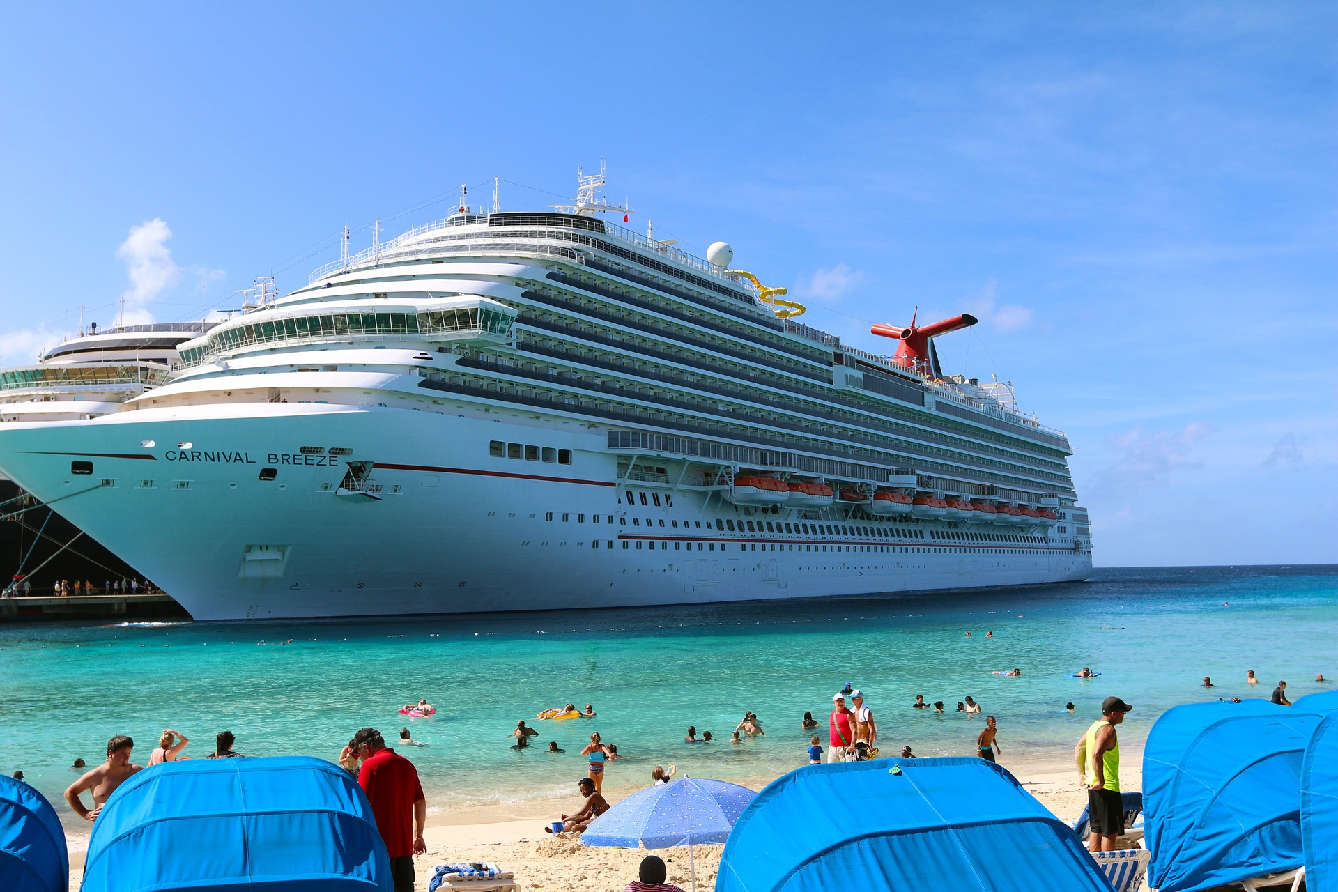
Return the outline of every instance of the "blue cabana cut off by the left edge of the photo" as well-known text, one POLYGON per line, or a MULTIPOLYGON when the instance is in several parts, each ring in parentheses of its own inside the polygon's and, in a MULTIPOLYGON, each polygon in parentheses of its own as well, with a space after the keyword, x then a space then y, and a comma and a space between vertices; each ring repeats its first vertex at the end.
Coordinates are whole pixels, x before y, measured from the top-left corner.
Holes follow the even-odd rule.
POLYGON ((66 832, 47 797, 12 777, 0 777, 0 889, 66 892, 70 856, 66 832))

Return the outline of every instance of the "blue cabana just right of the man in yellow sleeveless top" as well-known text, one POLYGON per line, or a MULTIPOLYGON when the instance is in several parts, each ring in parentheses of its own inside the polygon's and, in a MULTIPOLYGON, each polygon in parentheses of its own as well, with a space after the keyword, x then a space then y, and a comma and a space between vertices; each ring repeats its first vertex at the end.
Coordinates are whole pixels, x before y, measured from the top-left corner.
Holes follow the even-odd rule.
POLYGON ((1319 718, 1263 699, 1167 710, 1143 750, 1148 884, 1193 892, 1299 868, 1301 762, 1319 718))

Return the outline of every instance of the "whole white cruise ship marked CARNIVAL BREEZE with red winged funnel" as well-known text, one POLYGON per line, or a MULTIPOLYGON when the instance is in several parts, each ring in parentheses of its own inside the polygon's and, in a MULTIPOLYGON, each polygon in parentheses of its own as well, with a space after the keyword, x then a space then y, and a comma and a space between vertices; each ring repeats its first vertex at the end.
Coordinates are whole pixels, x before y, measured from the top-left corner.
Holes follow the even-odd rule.
POLYGON ((116 412, 0 425, 0 469, 201 621, 1089 575, 1065 435, 939 368, 974 318, 855 349, 599 186, 345 247, 116 412))

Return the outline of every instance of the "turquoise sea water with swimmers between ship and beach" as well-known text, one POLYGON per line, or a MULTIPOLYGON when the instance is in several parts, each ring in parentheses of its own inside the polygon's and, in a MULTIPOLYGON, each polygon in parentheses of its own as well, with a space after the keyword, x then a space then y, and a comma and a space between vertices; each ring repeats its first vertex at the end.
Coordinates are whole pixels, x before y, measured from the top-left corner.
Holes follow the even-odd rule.
POLYGON ((1282 678, 1293 699, 1321 690, 1315 673, 1338 678, 1334 629, 1334 566, 1101 570, 1034 588, 710 607, 4 626, 0 770, 23 769, 59 802, 74 758, 100 761, 118 733, 134 737, 140 764, 163 728, 185 732, 183 756, 197 758, 229 729, 249 756, 333 760, 371 725, 387 738, 408 726, 428 744, 401 752, 434 808, 570 796, 591 730, 624 754, 606 789, 641 786, 669 764, 747 780, 804 764, 804 710, 826 729, 847 681, 866 691, 884 754, 903 744, 918 756, 973 753, 981 717, 951 711, 970 694, 998 718, 1008 765, 1066 753, 1109 694, 1135 705, 1121 740, 1141 742, 1176 703, 1267 697, 1282 678), (1084 665, 1101 677, 1065 677, 1084 665), (1021 678, 993 674, 1014 666, 1021 678), (1247 669, 1260 678, 1252 689, 1247 669), (1203 675, 1219 686, 1204 690, 1203 675), (915 694, 945 701, 947 714, 911 709, 915 694), (438 706, 434 718, 397 714, 419 697, 438 706), (508 749, 518 718, 563 702, 594 703, 598 717, 530 722, 539 745, 508 749), (768 736, 731 746, 745 709, 768 736), (684 744, 688 725, 717 742, 684 744), (543 752, 550 740, 566 754, 543 752))

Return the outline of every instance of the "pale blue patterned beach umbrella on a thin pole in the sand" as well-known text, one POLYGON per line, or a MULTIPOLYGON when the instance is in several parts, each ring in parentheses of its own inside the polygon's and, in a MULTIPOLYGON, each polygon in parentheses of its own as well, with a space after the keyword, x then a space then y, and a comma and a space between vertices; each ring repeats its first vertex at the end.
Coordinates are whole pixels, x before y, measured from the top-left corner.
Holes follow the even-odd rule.
POLYGON ((581 834, 582 845, 634 849, 666 849, 686 845, 692 887, 697 888, 697 864, 692 847, 724 843, 744 808, 757 796, 739 784, 684 777, 633 793, 591 821, 581 834))

